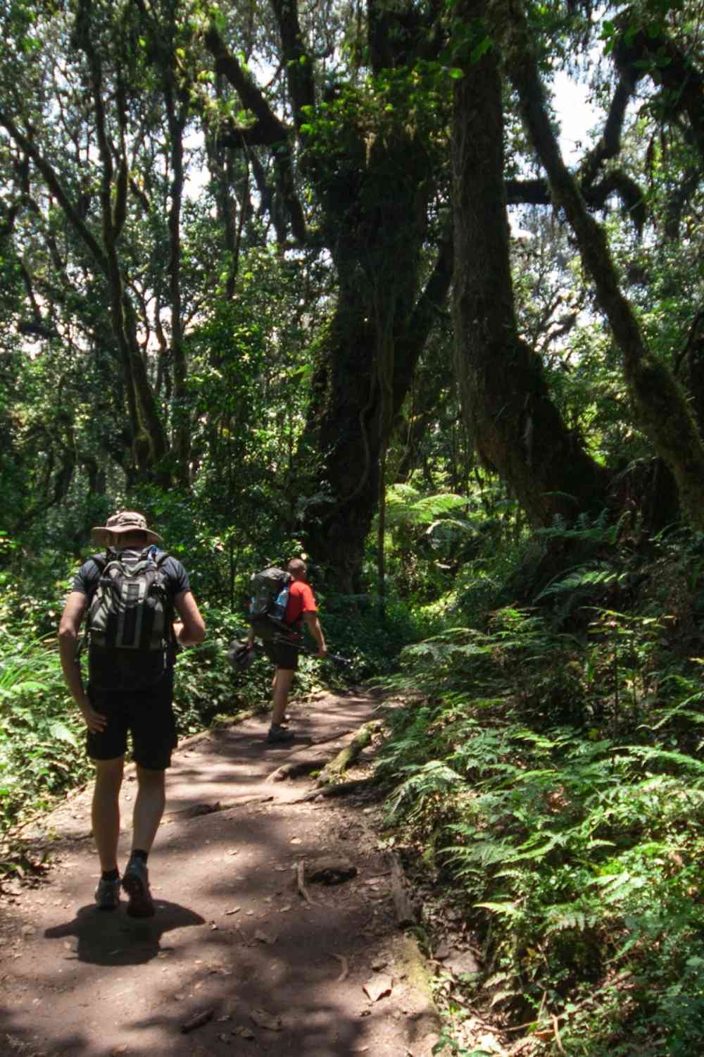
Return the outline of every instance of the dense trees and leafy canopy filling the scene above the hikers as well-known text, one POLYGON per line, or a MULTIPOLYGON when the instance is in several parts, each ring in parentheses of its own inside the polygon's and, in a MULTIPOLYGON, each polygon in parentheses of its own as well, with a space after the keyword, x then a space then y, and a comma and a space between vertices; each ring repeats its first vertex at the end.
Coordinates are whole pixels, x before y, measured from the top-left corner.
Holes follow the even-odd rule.
POLYGON ((394 484, 704 526, 696 4, 0 17, 6 539, 178 494, 351 591, 394 484))

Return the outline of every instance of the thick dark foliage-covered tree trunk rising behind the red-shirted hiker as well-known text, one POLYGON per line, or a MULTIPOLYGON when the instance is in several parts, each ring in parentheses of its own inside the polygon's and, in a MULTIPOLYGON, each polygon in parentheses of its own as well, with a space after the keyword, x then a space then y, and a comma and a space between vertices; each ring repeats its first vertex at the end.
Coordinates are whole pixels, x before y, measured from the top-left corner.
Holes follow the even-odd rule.
MULTIPOLYGON (((430 324, 420 315, 431 310, 419 301, 430 178, 422 145, 403 135, 375 145, 355 183, 343 171, 327 177, 326 234, 339 292, 302 445, 316 458, 308 487, 323 497, 309 507, 306 541, 350 592, 359 590, 378 505, 380 455, 430 324)), ((438 264, 426 298, 443 298, 448 264, 438 264)))

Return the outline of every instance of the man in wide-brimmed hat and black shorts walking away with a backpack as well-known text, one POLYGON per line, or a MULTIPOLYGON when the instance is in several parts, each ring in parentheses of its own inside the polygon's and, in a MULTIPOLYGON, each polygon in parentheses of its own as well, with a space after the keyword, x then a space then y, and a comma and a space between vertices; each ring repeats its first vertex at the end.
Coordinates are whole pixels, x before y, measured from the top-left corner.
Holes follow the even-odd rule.
MULTIPOLYGON (((108 518, 106 525, 94 528, 92 537, 94 542, 107 545, 108 551, 104 555, 90 558, 81 565, 73 591, 66 599, 59 624, 61 667, 88 727, 88 755, 95 761, 92 820, 102 871, 95 900, 102 910, 114 909, 119 902, 118 797, 128 731, 132 735, 137 797, 133 813, 132 852, 121 886, 130 896, 128 913, 147 917, 154 913, 147 857, 164 814, 165 774, 171 764, 171 752, 176 745, 172 707, 175 644, 192 646, 203 642, 205 625, 191 593, 186 570, 175 558, 158 551, 155 544, 160 542, 160 537, 147 527, 141 514, 129 511, 115 514, 108 518), (110 569, 123 568, 129 576, 130 571, 136 569, 140 561, 149 571, 146 581, 149 583, 153 580, 156 583, 153 589, 157 599, 156 612, 168 625, 164 629, 164 647, 160 650, 153 649, 148 657, 142 650, 136 648, 113 649, 113 632, 112 641, 106 641, 104 648, 100 649, 93 643, 93 638, 96 643, 101 642, 98 629, 101 627, 102 602, 100 596, 96 599, 96 593, 101 590, 102 580, 109 579, 110 569), (171 626, 174 610, 179 619, 171 626), (76 661, 78 635, 84 616, 91 626, 92 641, 87 688, 83 687, 81 670, 76 661), (145 674, 145 657, 153 670, 154 674, 151 676, 145 674), (110 664, 117 665, 114 669, 114 682, 110 679, 110 664), (131 673, 136 673, 132 682, 131 673)), ((136 576, 135 581, 138 581, 136 576)), ((125 589, 126 596, 132 587, 139 594, 142 590, 140 582, 128 586, 125 589)), ((120 605, 119 592, 116 605, 120 605)), ((132 615, 134 612, 137 612, 137 624, 141 626, 141 610, 132 610, 132 615)), ((129 615, 125 615, 126 626, 129 625, 129 615)), ((123 630, 122 628, 121 631, 123 630)))

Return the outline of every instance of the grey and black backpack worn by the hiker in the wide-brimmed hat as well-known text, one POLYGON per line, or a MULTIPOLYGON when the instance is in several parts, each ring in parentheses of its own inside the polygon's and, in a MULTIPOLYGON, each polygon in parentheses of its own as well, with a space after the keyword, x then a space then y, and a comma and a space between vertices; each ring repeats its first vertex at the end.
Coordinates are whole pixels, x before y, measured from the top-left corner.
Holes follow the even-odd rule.
POLYGON ((96 554, 100 579, 91 599, 89 680, 99 690, 140 689, 158 682, 173 649, 173 599, 164 562, 155 546, 134 552, 96 554))

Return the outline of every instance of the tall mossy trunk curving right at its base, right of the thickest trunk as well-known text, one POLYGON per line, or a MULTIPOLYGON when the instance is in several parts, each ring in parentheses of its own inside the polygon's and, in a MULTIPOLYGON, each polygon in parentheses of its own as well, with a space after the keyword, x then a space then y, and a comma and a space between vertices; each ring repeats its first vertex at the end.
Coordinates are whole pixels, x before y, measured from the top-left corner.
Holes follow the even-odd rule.
MULTIPOLYGON (((484 6, 463 0, 458 13, 470 24, 484 6)), ((566 427, 540 359, 518 336, 495 53, 462 67, 453 125, 453 317, 463 413, 479 457, 514 490, 531 523, 549 524, 556 514, 572 520, 604 505, 607 478, 566 427)))

